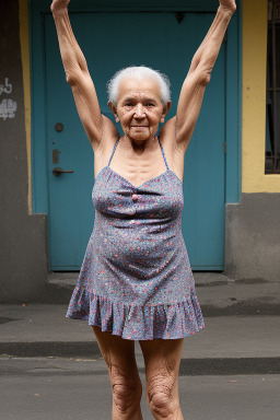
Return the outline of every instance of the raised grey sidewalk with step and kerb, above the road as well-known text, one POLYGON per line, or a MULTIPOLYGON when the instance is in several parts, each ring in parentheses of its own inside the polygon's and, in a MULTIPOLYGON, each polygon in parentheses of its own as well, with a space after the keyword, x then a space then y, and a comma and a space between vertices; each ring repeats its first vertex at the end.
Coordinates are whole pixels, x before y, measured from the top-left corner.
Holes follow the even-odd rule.
MULTIPOLYGON (((78 275, 49 276, 49 296, 63 302, 0 305, 0 357, 101 357, 88 322, 66 318, 78 275)), ((279 374, 280 282, 194 276, 206 328, 185 339, 180 373, 279 374)))

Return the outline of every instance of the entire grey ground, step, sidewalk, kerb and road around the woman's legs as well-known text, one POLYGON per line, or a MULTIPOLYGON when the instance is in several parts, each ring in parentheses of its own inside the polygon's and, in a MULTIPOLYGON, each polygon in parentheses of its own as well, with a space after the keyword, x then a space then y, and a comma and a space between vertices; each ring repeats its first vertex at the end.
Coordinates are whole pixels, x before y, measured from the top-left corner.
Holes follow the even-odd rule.
MULTIPOLYGON (((0 419, 108 420, 110 385, 86 320, 66 318, 79 273, 50 273, 43 302, 0 305, 0 419)), ((206 328, 184 340, 188 420, 278 420, 280 282, 195 272, 206 328)), ((144 361, 136 341, 143 384, 144 361)))

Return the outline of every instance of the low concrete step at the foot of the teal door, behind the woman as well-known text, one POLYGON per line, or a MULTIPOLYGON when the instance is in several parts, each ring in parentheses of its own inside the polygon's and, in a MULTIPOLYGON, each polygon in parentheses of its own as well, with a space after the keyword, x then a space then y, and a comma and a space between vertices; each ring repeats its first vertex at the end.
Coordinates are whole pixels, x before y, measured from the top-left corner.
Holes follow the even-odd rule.
MULTIPOLYGON (((221 272, 194 272, 205 316, 280 315, 280 279, 230 279, 221 272)), ((69 303, 79 272, 50 272, 44 303, 69 303)))

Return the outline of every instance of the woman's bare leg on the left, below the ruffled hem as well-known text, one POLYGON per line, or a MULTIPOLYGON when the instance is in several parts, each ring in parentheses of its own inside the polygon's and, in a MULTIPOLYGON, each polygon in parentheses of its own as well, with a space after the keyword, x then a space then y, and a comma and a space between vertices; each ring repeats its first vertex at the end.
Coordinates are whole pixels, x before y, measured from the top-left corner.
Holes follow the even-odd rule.
POLYGON ((107 364, 113 390, 113 420, 143 420, 140 409, 142 384, 139 376, 135 341, 124 340, 92 326, 107 364))

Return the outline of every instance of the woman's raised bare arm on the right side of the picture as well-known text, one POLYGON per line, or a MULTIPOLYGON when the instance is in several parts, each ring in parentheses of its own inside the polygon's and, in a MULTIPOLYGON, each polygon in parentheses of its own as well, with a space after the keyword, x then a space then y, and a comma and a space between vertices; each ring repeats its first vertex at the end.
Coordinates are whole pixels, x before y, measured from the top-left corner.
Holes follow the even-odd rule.
POLYGON ((220 0, 214 21, 195 54, 183 83, 175 117, 176 145, 187 150, 200 113, 205 91, 210 82, 225 31, 236 10, 234 0, 220 0))

